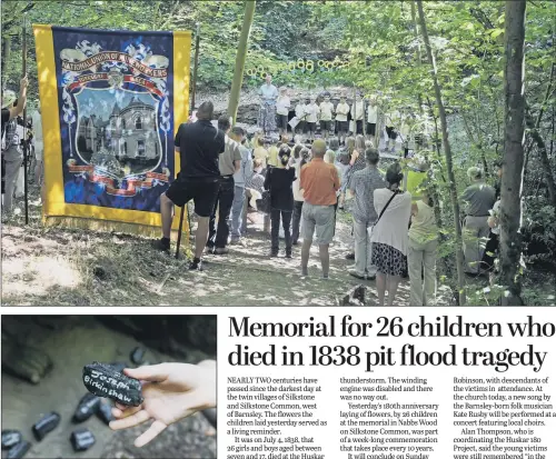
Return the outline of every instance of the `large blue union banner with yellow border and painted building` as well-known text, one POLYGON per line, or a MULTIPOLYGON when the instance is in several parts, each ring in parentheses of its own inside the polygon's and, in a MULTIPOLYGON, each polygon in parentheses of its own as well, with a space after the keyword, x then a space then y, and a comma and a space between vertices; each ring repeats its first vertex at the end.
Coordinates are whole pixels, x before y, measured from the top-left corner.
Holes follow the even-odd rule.
POLYGON ((190 32, 33 29, 44 222, 159 231, 160 194, 179 172, 175 132, 188 118, 190 32))

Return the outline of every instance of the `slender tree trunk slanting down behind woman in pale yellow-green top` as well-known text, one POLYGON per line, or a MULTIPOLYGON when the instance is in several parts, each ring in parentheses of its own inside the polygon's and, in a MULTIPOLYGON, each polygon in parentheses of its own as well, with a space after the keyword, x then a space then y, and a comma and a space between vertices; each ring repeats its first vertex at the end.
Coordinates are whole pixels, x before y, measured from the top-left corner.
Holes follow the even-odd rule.
POLYGON ((440 92, 440 86, 438 84, 438 76, 436 69, 436 61, 433 56, 433 49, 430 48, 430 41, 428 39, 427 23, 425 20, 425 12, 423 10, 423 0, 417 0, 417 8, 419 10, 419 22, 420 31, 423 34, 423 40, 425 41, 425 48, 427 50, 428 61, 433 70, 433 82, 435 84, 436 103, 438 106, 438 111, 440 116, 440 127, 443 131, 443 144, 444 153, 446 156, 446 169, 448 173, 448 186, 450 190, 451 206, 454 208, 454 226, 456 229, 456 268, 457 268, 457 283, 459 289, 459 305, 466 303, 465 298, 465 272, 464 272, 464 251, 463 251, 463 237, 461 237, 461 226, 459 224, 459 202, 457 198, 456 190, 456 179, 454 177, 454 166, 451 160, 451 149, 448 140, 448 126, 446 121, 446 111, 443 103, 443 96, 440 92))

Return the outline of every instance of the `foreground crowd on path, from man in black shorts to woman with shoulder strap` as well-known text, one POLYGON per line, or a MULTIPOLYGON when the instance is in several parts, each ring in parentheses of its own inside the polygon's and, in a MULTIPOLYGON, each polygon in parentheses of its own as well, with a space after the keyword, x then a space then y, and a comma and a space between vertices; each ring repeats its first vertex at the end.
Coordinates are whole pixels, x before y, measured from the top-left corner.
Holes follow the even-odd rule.
MULTIPOLYGON (((377 168, 377 149, 361 134, 348 137, 345 148, 340 148, 338 138, 311 141, 310 136, 306 143, 300 136, 294 142, 287 137, 272 142, 262 134, 249 144, 246 132, 231 128, 227 114, 218 119, 218 128, 211 124, 212 118, 212 103, 203 102, 197 121, 178 130, 175 144, 182 169, 161 197, 163 235, 156 248, 170 250, 172 208, 192 199, 198 227, 190 269, 202 270, 203 253, 226 255, 228 243, 238 243, 245 237, 250 202, 266 213, 270 257, 280 255, 280 232, 286 258, 294 256, 292 247, 301 239, 300 276, 308 276, 315 241, 321 278, 328 279, 337 212, 347 201, 354 216, 355 267, 350 273, 358 279, 376 277, 380 303, 388 292, 387 303, 393 305, 397 286, 407 276, 411 214, 411 196, 401 189, 399 162, 383 174, 377 168)), ((429 228, 431 211, 425 201, 415 206, 414 214, 416 235, 435 232, 429 228)))

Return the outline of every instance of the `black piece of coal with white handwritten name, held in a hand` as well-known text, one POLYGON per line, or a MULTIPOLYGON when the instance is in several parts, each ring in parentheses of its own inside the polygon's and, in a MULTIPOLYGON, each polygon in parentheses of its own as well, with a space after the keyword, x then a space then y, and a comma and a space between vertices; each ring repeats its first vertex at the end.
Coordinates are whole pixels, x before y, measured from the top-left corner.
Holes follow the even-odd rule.
POLYGON ((108 397, 121 405, 138 407, 142 403, 141 382, 112 367, 97 361, 83 367, 83 383, 98 397, 108 397))

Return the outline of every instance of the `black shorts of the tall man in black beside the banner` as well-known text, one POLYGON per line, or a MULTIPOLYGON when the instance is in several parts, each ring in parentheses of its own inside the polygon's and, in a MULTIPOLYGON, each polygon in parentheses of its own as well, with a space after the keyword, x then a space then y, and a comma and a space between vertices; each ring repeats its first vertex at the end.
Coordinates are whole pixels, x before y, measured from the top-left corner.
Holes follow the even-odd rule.
POLYGON ((172 181, 166 196, 178 207, 183 207, 191 199, 195 202, 195 213, 199 217, 210 217, 215 209, 220 178, 185 178, 172 181))

